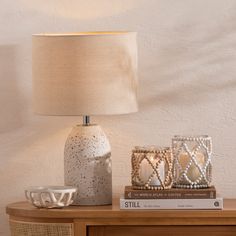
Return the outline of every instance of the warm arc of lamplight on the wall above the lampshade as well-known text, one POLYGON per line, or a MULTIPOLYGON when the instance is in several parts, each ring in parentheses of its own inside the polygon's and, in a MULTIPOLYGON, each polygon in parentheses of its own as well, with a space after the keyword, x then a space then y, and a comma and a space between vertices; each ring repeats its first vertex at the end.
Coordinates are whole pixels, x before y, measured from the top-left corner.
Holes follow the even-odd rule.
POLYGON ((67 19, 91 20, 121 14, 132 9, 145 0, 100 0, 99 4, 94 0, 51 0, 44 4, 41 0, 20 0, 21 5, 27 8, 45 13, 48 16, 56 15, 67 19))

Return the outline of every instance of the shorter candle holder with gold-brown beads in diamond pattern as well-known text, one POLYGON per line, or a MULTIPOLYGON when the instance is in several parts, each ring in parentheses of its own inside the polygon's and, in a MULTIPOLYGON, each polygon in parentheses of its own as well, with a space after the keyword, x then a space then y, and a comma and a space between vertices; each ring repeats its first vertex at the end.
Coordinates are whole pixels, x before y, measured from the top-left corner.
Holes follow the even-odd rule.
POLYGON ((132 151, 134 189, 168 189, 172 184, 171 148, 135 147, 132 151))

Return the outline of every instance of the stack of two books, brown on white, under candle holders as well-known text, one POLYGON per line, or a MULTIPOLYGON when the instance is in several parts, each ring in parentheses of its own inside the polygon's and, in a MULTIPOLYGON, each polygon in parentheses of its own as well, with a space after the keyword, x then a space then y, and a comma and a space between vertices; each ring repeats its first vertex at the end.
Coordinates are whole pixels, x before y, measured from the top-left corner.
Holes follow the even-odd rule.
POLYGON ((137 190, 126 186, 120 209, 223 209, 214 186, 204 189, 137 190))

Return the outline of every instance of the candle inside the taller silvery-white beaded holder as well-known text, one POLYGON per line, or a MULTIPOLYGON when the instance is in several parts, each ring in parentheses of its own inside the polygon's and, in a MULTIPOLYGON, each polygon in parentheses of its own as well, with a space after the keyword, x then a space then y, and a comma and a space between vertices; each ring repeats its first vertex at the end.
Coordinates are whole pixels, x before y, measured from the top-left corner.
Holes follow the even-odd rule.
MULTIPOLYGON (((200 153, 200 152, 196 153, 195 159, 200 167, 204 166, 205 157, 202 153, 200 153)), ((180 163, 183 170, 186 169, 189 162, 190 162, 190 156, 188 155, 188 153, 184 152, 179 155, 179 163, 180 163)), ((196 181, 200 177, 201 173, 200 173, 198 167, 194 164, 194 162, 192 162, 186 175, 193 182, 196 181)), ((183 183, 189 184, 186 180, 183 181, 183 183)))

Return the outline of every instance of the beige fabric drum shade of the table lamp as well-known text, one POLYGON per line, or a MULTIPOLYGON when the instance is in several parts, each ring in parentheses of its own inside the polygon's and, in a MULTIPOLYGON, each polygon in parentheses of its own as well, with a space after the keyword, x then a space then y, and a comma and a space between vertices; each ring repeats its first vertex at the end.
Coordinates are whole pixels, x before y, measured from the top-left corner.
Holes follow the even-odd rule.
POLYGON ((33 35, 33 103, 45 115, 137 111, 135 32, 33 35))

